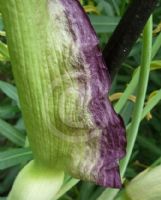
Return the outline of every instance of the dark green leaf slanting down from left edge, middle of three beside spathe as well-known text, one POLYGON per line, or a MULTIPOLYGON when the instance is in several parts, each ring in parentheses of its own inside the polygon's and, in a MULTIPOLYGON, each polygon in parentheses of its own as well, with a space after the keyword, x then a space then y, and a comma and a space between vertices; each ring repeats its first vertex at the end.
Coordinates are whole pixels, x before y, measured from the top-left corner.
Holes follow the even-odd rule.
POLYGON ((2 119, 0 119, 0 133, 19 146, 25 144, 25 135, 2 119))

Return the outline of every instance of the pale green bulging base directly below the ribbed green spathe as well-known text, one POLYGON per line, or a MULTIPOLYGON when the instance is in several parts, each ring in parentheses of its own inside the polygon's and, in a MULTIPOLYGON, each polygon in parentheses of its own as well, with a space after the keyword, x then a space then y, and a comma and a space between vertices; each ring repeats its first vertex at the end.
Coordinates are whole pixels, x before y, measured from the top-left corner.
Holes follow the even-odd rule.
POLYGON ((63 171, 55 171, 31 161, 16 178, 8 200, 51 200, 63 180, 63 171))

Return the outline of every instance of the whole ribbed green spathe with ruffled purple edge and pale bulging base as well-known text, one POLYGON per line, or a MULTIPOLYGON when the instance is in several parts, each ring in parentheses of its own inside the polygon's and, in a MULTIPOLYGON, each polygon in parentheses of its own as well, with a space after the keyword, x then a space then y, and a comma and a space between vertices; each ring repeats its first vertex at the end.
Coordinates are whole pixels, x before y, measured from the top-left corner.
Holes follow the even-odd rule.
POLYGON ((64 173, 121 187, 122 119, 107 97, 110 77, 78 0, 0 0, 34 160, 9 199, 48 200, 64 173))

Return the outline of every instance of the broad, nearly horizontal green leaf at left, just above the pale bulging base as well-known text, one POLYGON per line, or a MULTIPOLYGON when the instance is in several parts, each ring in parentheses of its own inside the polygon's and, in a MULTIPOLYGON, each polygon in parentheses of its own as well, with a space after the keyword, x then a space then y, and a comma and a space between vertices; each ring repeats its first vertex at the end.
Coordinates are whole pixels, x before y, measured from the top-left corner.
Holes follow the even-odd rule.
POLYGON ((0 152, 0 170, 22 164, 32 159, 29 148, 10 149, 0 152))

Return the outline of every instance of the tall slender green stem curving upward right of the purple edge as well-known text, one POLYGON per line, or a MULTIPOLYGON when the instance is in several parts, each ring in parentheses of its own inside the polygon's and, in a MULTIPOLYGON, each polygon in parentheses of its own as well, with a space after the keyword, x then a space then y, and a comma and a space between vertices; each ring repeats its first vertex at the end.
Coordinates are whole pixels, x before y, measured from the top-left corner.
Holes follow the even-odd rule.
MULTIPOLYGON (((132 150, 137 138, 138 129, 142 120, 142 113, 144 107, 144 100, 146 96, 146 90, 148 86, 149 74, 150 74, 150 62, 152 52, 152 17, 148 20, 144 32, 143 32, 143 48, 141 58, 141 68, 138 82, 138 91, 136 104, 134 106, 134 112, 132 116, 132 122, 127 127, 127 155, 121 162, 121 176, 124 176, 127 165, 129 163, 132 150)), ((118 189, 107 189, 97 200, 113 200, 118 189)))

